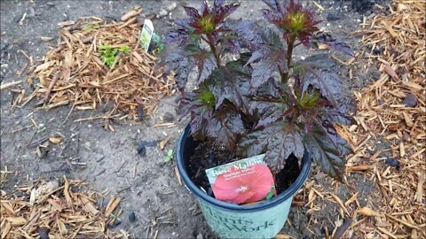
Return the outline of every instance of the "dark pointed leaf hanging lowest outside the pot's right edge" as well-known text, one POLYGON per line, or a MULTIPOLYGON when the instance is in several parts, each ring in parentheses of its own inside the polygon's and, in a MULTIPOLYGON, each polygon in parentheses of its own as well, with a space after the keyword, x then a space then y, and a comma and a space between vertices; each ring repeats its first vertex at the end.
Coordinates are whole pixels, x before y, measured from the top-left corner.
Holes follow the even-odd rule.
POLYGON ((304 136, 304 147, 310 157, 322 167, 325 173, 336 180, 343 181, 345 161, 343 155, 351 149, 340 136, 336 136, 336 145, 324 130, 312 127, 312 132, 304 136))

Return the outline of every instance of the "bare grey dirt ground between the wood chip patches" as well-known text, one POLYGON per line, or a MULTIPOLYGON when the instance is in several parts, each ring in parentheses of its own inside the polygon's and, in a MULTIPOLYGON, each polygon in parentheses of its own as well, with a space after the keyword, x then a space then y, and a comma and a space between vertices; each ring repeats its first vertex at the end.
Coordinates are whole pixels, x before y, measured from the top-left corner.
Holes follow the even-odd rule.
MULTIPOLYGON (((317 2, 326 9, 321 13, 324 21, 320 26, 357 49, 358 39, 348 34, 359 28, 362 14, 370 13, 368 8, 367 12, 364 12, 366 9, 353 9, 350 1, 317 2)), ((27 52, 34 60, 41 59, 48 46, 54 44, 58 38, 59 22, 83 16, 119 19, 132 6, 140 4, 143 4, 143 13, 149 15, 158 13, 173 3, 185 4, 184 1, 123 0, 1 1, 0 81, 6 83, 25 80, 26 73, 17 76, 20 69, 28 63, 28 59, 20 50, 27 52), (56 39, 43 42, 41 36, 56 39)), ((197 6, 200 2, 187 4, 197 6)), ((262 19, 258 11, 261 8, 264 8, 264 4, 260 1, 242 1, 240 9, 234 12, 231 18, 262 19)), ((162 35, 171 27, 172 19, 183 15, 182 8, 177 6, 169 16, 155 19, 154 27, 162 35)), ((300 50, 296 57, 307 57, 310 53, 300 50)), ((343 73, 347 73, 347 70, 343 70, 343 73)), ((367 74, 356 72, 355 69, 351 81, 345 81, 348 89, 365 86, 367 82, 375 79, 374 69, 367 74)), ((31 90, 25 83, 16 88, 28 89, 28 92, 31 90)), ((2 189, 6 193, 12 192, 13 187, 17 185, 39 177, 60 178, 66 174, 68 178, 85 179, 91 183, 93 189, 108 189, 111 192, 109 196, 122 197, 122 224, 116 229, 128 230, 132 238, 153 237, 156 231, 157 238, 200 239, 214 236, 202 219, 201 211, 193 197, 184 186, 178 184, 174 165, 164 160, 165 151, 176 147, 177 137, 186 124, 185 120, 177 121, 174 96, 163 99, 154 116, 143 122, 114 122, 114 132, 106 130, 101 120, 74 122, 102 114, 112 107, 111 104, 101 105, 97 111, 73 112, 64 122, 70 106, 46 112, 37 109, 36 100, 33 100, 25 107, 11 111, 12 97, 9 89, 1 91, 1 169, 7 166, 9 171, 18 172, 9 176, 4 184, 2 189), (174 116, 176 127, 153 127, 162 122, 166 112, 174 116), (63 135, 65 140, 59 144, 49 144, 42 152, 42 157, 38 157, 31 143, 54 135, 63 135), (165 135, 170 136, 165 150, 160 150, 158 146, 149 147, 145 157, 138 155, 139 142, 160 142, 165 135), (130 212, 136 213, 136 222, 130 223, 127 219, 130 212)), ((333 187, 326 177, 312 173, 312 178, 324 187, 333 187)), ((368 194, 372 189, 371 183, 356 174, 351 176, 350 181, 359 189, 361 195, 368 194)), ((351 189, 342 186, 338 196, 347 199, 350 192, 351 189)), ((304 190, 300 191, 299 197, 306 197, 304 190)), ((326 202, 326 207, 320 211, 313 212, 308 212, 308 208, 293 207, 282 233, 294 238, 311 238, 312 231, 307 229, 309 225, 315 235, 322 237, 323 227, 331 225, 338 214, 334 208, 335 204, 330 202, 326 202)))

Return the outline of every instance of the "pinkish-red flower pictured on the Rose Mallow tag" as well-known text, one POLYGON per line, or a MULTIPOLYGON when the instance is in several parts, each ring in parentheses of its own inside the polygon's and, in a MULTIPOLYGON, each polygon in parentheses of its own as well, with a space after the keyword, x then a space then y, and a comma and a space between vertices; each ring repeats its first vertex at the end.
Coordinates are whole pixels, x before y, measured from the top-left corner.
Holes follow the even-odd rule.
POLYGON ((264 199, 273 185, 268 166, 256 164, 245 169, 232 168, 230 173, 218 175, 212 189, 218 200, 248 204, 264 199))

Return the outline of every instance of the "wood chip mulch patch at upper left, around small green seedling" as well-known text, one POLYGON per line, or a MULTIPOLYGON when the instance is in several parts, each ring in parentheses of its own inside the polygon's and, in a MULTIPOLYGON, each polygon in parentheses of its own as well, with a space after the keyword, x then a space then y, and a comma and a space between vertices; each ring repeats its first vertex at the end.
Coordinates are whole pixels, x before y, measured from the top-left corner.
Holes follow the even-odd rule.
POLYGON ((119 22, 88 17, 59 23, 59 43, 51 46, 41 64, 29 70, 28 82, 36 91, 21 102, 27 104, 37 96, 43 109, 71 104, 71 111, 93 110, 99 104, 114 102, 108 117, 121 113, 121 119, 130 115, 128 119, 141 120, 151 115, 160 98, 173 94, 174 83, 173 77, 157 66, 158 59, 139 45, 140 12, 132 10, 119 22), (102 46, 129 51, 118 51, 109 67, 101 60, 102 46))

